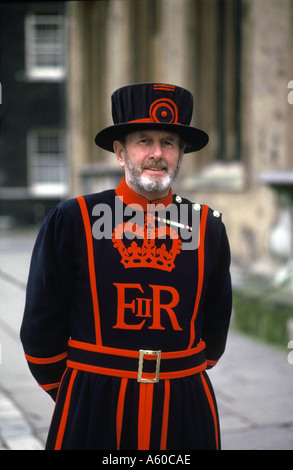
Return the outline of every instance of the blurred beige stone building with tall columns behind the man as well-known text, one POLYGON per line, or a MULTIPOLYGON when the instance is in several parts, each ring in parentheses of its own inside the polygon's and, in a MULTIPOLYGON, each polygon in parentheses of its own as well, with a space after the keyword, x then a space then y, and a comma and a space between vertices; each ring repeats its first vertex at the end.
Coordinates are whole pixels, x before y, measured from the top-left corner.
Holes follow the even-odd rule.
POLYGON ((176 190, 223 213, 234 265, 267 269, 280 208, 261 179, 293 163, 293 2, 81 1, 67 13, 72 194, 119 178, 113 155, 93 142, 112 123, 111 93, 176 83, 193 92, 193 124, 210 135, 206 149, 185 157, 176 190))

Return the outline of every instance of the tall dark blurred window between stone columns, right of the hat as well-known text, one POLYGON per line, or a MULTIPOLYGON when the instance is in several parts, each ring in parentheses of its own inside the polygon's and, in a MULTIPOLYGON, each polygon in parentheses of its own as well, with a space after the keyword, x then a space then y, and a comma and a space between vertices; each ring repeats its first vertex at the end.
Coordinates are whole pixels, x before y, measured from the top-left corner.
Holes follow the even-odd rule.
POLYGON ((242 158, 242 8, 242 0, 197 2, 200 99, 196 116, 211 136, 205 163, 242 158))

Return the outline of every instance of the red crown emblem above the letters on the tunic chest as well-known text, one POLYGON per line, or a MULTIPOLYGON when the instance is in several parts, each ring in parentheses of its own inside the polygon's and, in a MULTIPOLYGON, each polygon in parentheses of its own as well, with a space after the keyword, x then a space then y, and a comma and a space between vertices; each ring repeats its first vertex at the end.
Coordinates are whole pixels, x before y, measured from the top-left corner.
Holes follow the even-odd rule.
POLYGON ((138 227, 132 222, 119 224, 113 231, 112 241, 125 268, 172 271, 175 258, 181 251, 181 239, 176 230, 168 226, 156 227, 155 217, 151 213, 145 215, 144 227, 138 227), (138 241, 132 240, 127 246, 123 238, 133 239, 134 234, 138 241), (162 242, 163 239, 166 243, 162 242), (167 244, 171 245, 170 249, 167 249, 167 244))

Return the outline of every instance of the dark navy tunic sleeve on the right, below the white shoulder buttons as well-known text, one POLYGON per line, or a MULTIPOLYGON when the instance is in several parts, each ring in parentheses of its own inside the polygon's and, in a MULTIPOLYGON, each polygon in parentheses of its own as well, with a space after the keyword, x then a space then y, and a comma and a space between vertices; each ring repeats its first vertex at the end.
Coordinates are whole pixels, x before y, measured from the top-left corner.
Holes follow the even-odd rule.
POLYGON ((206 343, 209 368, 217 363, 225 350, 232 311, 230 248, 222 223, 221 228, 220 246, 219 241, 217 243, 219 246, 217 263, 211 273, 203 305, 202 339, 206 343))

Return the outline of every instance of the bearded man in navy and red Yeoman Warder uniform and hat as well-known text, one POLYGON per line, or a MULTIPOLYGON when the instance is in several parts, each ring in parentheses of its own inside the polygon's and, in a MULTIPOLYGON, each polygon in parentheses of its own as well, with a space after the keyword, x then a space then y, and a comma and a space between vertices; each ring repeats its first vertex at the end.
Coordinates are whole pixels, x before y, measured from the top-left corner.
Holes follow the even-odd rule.
POLYGON ((47 449, 220 448, 205 369, 225 349, 229 245, 217 211, 171 189, 208 142, 192 106, 173 85, 117 90, 96 143, 125 177, 59 204, 40 229, 21 339, 56 400, 47 449))

